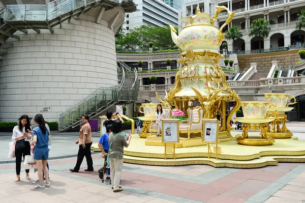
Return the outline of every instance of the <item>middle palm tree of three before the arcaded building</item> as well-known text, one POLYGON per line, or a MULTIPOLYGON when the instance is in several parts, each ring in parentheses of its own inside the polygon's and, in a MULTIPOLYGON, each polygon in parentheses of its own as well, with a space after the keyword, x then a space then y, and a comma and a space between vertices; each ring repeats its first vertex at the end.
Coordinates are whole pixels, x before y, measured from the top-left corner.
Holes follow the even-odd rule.
POLYGON ((263 18, 253 20, 252 24, 250 25, 249 36, 259 37, 259 50, 261 49, 260 37, 262 37, 263 39, 268 37, 269 32, 271 30, 269 25, 270 23, 264 20, 263 18))

